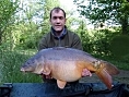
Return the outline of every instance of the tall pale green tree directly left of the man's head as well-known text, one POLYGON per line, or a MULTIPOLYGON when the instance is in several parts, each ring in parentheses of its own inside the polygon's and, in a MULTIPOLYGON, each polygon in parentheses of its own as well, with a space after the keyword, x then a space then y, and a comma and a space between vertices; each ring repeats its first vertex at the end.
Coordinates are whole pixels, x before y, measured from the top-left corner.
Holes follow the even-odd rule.
POLYGON ((59 0, 30 0, 22 2, 17 46, 35 49, 43 34, 49 31, 49 11, 59 5, 59 0))

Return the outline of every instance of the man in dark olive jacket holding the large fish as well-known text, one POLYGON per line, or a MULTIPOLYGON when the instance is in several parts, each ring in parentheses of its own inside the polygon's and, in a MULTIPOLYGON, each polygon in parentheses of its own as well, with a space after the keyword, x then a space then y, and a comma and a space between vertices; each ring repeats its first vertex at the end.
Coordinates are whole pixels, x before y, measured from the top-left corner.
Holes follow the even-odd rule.
MULTIPOLYGON (((66 12, 61 8, 54 8, 50 11, 51 29, 39 41, 38 50, 51 47, 70 47, 82 50, 82 45, 79 36, 75 33, 68 31, 66 26, 66 12)), ((90 75, 87 70, 82 72, 82 76, 90 75)), ((43 75, 45 82, 54 82, 50 76, 43 75)))

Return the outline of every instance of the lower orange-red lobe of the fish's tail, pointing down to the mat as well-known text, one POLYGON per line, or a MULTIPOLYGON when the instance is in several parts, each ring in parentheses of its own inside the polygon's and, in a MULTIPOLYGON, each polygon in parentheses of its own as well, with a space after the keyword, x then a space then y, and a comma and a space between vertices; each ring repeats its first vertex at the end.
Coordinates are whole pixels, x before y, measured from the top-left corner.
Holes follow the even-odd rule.
POLYGON ((108 72, 105 69, 102 69, 101 71, 96 71, 95 73, 102 80, 102 82, 108 87, 108 89, 110 89, 113 81, 108 72))

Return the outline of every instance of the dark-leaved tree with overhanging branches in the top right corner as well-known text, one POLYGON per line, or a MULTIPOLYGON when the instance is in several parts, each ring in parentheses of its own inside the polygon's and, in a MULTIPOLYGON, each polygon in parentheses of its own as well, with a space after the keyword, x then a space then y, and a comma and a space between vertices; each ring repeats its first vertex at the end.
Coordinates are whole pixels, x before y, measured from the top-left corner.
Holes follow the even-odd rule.
POLYGON ((92 23, 110 22, 121 25, 122 34, 129 34, 129 2, 126 0, 90 0, 85 5, 84 0, 74 0, 81 15, 92 23))

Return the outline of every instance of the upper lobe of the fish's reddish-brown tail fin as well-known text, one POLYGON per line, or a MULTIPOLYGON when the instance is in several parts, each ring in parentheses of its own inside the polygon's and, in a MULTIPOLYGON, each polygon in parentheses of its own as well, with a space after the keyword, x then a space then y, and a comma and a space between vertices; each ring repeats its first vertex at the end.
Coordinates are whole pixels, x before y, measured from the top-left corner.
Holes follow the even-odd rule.
POLYGON ((107 61, 102 61, 102 63, 104 64, 104 68, 106 69, 108 74, 110 74, 110 75, 119 74, 119 70, 112 63, 109 63, 107 61))

